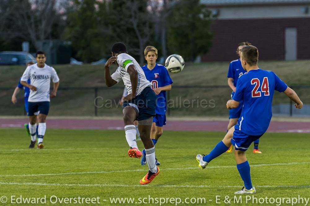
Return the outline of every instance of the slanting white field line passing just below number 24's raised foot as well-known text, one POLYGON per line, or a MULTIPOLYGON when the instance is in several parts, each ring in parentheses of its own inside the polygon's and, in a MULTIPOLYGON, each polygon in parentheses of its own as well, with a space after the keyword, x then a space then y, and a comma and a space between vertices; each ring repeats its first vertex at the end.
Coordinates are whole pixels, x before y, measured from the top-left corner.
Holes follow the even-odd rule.
MULTIPOLYGON (((274 165, 303 165, 310 164, 310 162, 290 162, 290 163, 274 163, 274 164, 260 164, 260 165, 251 165, 251 167, 262 167, 262 166, 274 166, 274 165)), ((215 168, 235 168, 236 166, 210 166, 207 169, 215 168)), ((161 170, 198 170, 199 167, 186 167, 186 168, 164 168, 161 170)), ((139 170, 112 170, 112 171, 89 171, 89 172, 66 172, 66 173, 55 173, 55 174, 4 174, 0 177, 33 177, 33 176, 55 176, 55 175, 70 175, 70 174, 101 174, 101 173, 117 173, 117 172, 139 172, 145 171, 142 169, 139 170)))

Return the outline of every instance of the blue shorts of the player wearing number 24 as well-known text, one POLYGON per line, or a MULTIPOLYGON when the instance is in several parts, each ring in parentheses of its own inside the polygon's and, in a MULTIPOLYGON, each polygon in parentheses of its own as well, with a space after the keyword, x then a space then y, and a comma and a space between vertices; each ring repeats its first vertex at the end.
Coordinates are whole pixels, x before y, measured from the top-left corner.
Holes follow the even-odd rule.
POLYGON ((252 142, 259 139, 261 136, 263 136, 263 134, 247 135, 241 132, 239 128, 238 129, 235 128, 235 131, 233 132, 233 136, 230 142, 235 147, 235 150, 246 151, 250 147, 252 142))

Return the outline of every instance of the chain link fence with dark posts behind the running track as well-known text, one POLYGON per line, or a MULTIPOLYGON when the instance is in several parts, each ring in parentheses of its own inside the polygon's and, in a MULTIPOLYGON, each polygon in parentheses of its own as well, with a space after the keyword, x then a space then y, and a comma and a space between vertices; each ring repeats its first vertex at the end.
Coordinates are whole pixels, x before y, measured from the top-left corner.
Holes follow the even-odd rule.
MULTIPOLYGON (((303 109, 294 109, 294 103, 285 94, 275 92, 272 111, 277 116, 310 116, 310 86, 290 86, 304 103, 303 109)), ((23 91, 15 105, 11 97, 15 88, 0 88, 0 115, 26 115, 23 91)), ((119 116, 123 87, 63 87, 51 99, 52 116, 119 116)), ((228 116, 226 102, 231 98, 227 85, 172 86, 167 92, 168 116, 228 116)))

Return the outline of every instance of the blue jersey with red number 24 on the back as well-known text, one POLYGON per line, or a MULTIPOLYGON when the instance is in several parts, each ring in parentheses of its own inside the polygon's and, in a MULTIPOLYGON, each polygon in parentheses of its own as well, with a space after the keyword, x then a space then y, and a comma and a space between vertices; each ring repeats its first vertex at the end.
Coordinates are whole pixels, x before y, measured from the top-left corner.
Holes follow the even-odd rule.
POLYGON ((242 101, 241 117, 235 126, 247 135, 262 135, 272 117, 271 105, 274 90, 284 92, 287 85, 272 71, 250 70, 238 79, 233 100, 242 101))

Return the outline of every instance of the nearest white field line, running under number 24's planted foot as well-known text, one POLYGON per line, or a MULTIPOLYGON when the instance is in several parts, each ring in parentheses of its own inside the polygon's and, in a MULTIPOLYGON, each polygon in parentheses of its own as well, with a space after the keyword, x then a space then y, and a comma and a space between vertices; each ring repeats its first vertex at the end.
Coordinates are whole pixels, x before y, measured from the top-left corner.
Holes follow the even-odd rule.
MULTIPOLYGON (((227 188, 243 186, 216 186, 216 185, 124 185, 124 184, 59 184, 59 183, 39 183, 39 182, 0 182, 0 185, 38 185, 38 186, 60 186, 60 187, 209 187, 209 188, 227 188)), ((309 188, 310 185, 259 185, 255 187, 280 187, 280 188, 309 188)))

